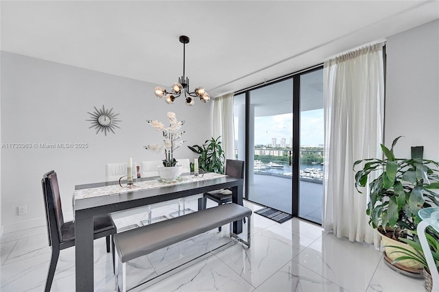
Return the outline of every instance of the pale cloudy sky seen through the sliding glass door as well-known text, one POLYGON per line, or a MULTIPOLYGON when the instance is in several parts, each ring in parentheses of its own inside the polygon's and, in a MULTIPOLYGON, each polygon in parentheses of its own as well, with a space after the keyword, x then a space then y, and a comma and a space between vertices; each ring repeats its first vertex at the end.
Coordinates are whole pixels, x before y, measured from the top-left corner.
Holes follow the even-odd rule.
MULTIPOLYGON (((300 116, 300 145, 324 144, 323 109, 301 112, 300 116)), ((270 145, 272 138, 276 138, 277 144, 281 144, 281 139, 285 138, 285 143, 289 144, 289 139, 292 137, 292 120, 293 114, 291 113, 256 117, 254 119, 254 145, 270 145)), ((237 137, 236 124, 235 137, 237 137)))

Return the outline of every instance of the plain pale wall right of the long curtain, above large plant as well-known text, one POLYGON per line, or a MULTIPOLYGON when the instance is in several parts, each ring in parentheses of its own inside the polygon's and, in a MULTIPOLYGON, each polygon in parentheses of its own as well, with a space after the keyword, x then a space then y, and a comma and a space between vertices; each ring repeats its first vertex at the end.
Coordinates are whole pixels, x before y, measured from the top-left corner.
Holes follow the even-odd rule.
POLYGON ((385 145, 404 136, 397 157, 424 146, 424 158, 439 160, 439 20, 387 40, 385 145))

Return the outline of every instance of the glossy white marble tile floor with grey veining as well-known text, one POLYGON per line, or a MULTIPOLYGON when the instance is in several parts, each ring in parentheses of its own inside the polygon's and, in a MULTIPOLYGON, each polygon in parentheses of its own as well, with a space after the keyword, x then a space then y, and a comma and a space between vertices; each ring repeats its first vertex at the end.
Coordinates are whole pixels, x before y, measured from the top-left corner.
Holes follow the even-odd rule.
MULTIPOLYGON (((262 208, 244 204, 252 210, 262 208)), ((173 209, 154 210, 155 216, 173 209)), ((211 250, 228 240, 227 230, 211 230, 139 258, 128 267, 131 283, 151 278, 187 255, 211 250)), ((278 224, 253 214, 250 231, 250 249, 237 243, 210 252, 199 263, 141 291, 425 291, 423 280, 385 266, 381 252, 372 245, 337 239, 308 221, 294 218, 278 224)), ((51 254, 46 227, 3 234, 0 247, 0 291, 43 291, 51 254)), ((97 239, 94 247, 95 291, 115 291, 105 239, 97 239)), ((75 247, 60 252, 51 291, 75 291, 74 259, 75 247)))

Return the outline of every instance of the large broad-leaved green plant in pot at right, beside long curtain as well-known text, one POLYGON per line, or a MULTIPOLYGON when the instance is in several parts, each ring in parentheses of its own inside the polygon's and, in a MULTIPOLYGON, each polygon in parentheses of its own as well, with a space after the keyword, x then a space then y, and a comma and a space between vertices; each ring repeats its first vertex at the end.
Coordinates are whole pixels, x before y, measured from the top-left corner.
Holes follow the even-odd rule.
MULTIPOLYGON (((439 163, 422 158, 395 158, 394 146, 399 138, 401 136, 394 139, 390 149, 381 144, 384 159, 368 158, 353 165, 357 191, 361 193, 360 188, 369 188, 366 213, 372 228, 381 233, 384 245, 399 245, 401 238, 415 240, 420 208, 439 206, 439 195, 433 191, 439 187, 439 163), (363 167, 355 170, 360 164, 363 167), (377 178, 374 175, 378 175, 377 178), (368 183, 370 178, 375 179, 368 183), (394 241, 389 243, 388 238, 394 241)), ((392 260, 401 256, 390 247, 385 249, 385 255, 392 260)), ((403 260, 399 262, 408 264, 403 260)), ((422 265, 415 263, 414 268, 420 267, 422 265)))

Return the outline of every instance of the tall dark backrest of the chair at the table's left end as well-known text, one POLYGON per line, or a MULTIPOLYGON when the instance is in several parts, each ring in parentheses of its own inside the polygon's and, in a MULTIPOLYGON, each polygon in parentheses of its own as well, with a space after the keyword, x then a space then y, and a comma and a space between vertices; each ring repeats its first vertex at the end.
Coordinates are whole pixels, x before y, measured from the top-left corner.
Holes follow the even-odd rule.
POLYGON ((49 171, 41 180, 46 208, 49 245, 59 245, 62 239, 61 226, 64 224, 58 178, 55 171, 49 171))

